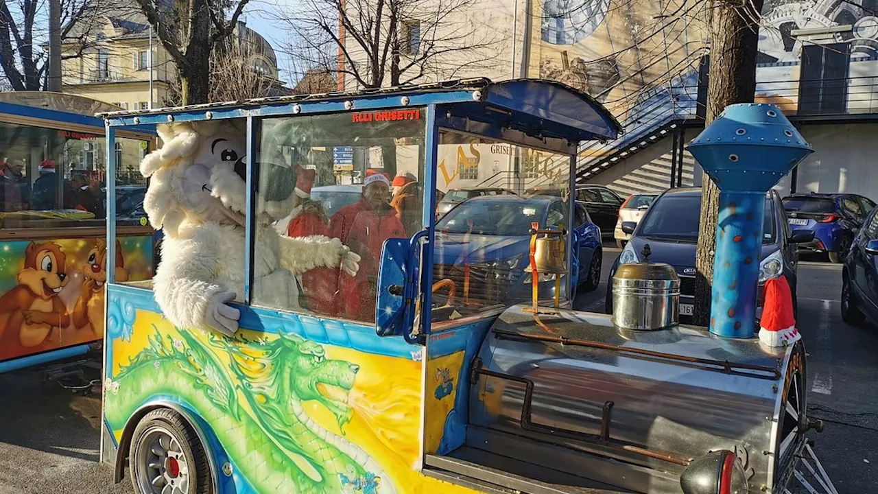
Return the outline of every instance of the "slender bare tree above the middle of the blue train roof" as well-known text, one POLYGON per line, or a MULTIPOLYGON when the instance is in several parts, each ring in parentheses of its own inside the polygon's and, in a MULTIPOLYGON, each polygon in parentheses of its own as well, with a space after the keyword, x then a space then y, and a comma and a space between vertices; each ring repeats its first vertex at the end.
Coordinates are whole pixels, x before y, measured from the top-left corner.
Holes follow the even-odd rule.
POLYGON ((479 0, 303 0, 278 16, 294 33, 288 47, 306 70, 377 88, 454 77, 495 63, 498 31, 472 16, 479 0))

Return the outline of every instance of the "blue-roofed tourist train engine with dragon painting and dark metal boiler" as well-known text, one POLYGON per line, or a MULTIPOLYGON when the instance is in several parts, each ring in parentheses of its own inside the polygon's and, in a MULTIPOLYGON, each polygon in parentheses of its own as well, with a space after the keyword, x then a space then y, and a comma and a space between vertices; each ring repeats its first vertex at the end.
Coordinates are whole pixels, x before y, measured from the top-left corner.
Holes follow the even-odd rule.
MULTIPOLYGON (((623 329, 570 309, 579 259, 600 248, 574 238, 587 222, 569 195, 576 150, 619 132, 593 98, 546 81, 475 79, 102 117, 111 144, 132 125, 246 129, 246 156, 222 154, 248 184, 234 337, 175 327, 151 282, 107 288, 101 459, 138 492, 755 494, 807 477, 834 493, 804 435, 817 424, 805 415, 801 342, 773 349, 675 324, 679 280, 649 305, 670 315, 659 326, 623 329), (437 173, 449 168, 437 156, 470 144, 551 157, 539 170, 507 163, 510 187, 565 190, 564 206, 480 199, 436 229, 437 173), (352 170, 385 171, 394 184, 414 175, 421 229, 360 251, 368 283, 330 283, 334 309, 317 303, 326 290, 315 272, 299 276, 298 302, 270 301, 254 265, 267 235, 260 208, 277 199, 269 189, 294 174, 299 192, 311 185, 302 177, 334 185, 352 170), (449 259, 453 280, 435 269, 449 259), (531 296, 471 296, 487 283, 520 283, 531 296), (371 304, 365 316, 348 310, 371 304)), ((323 218, 330 233, 338 214, 323 218)), ((272 226, 291 235, 285 221, 272 226)), ((353 245, 361 226, 342 241, 353 245)))

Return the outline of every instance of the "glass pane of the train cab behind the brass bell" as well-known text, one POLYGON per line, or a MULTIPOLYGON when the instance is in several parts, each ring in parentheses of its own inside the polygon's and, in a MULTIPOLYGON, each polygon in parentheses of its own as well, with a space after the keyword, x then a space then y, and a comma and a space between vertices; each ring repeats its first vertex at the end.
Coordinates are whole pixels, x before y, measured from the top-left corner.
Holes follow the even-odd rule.
MULTIPOLYGON (((531 301, 529 229, 533 222, 556 229, 572 224, 570 157, 453 131, 440 134, 437 157, 437 196, 447 193, 449 200, 461 189, 482 193, 461 198, 436 222, 433 281, 449 280, 455 290, 453 296, 448 290, 433 294, 433 321, 531 301), (464 174, 462 163, 478 167, 481 179, 464 174)), ((569 264, 566 251, 565 258, 569 264)), ((539 277, 541 302, 553 301, 555 275, 539 277)), ((564 300, 565 274, 560 279, 564 300)))

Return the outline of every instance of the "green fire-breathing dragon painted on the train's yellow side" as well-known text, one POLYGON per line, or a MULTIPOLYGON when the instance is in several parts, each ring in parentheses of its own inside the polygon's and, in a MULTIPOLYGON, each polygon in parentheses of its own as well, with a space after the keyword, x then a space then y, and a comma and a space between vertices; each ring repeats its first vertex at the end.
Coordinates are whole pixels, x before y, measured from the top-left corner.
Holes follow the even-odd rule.
POLYGON ((272 341, 189 331, 179 337, 162 338, 156 329, 148 348, 107 383, 104 413, 113 429, 151 396, 177 396, 212 425, 257 492, 396 491, 363 449, 318 425, 303 408, 309 401, 327 407, 343 435, 353 416, 347 398, 359 366, 327 360, 321 345, 290 334, 272 341))

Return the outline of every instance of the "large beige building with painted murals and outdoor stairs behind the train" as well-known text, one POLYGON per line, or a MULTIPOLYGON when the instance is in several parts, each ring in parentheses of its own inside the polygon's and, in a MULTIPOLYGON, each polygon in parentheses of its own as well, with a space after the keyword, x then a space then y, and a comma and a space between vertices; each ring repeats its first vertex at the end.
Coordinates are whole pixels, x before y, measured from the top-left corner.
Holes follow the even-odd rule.
MULTIPOLYGON (((499 40, 495 59, 428 72, 419 82, 450 76, 558 80, 607 105, 624 127, 615 142, 580 149, 580 183, 606 184, 623 194, 700 185, 702 172, 685 144, 703 127, 709 81, 705 5, 696 0, 479 2, 456 12, 454 22, 466 19, 486 39, 499 40)), ((422 46, 423 41, 407 44, 422 46)), ((874 0, 766 2, 757 82, 756 101, 779 105, 815 149, 777 186, 781 193, 878 198, 878 172, 869 158, 878 145, 869 138, 878 128, 874 0)), ((479 163, 457 160, 461 167, 481 165, 479 178, 468 186, 496 182, 493 169, 501 156, 480 156, 479 163), (481 163, 480 156, 489 159, 481 163)), ((520 157, 507 161, 515 162, 511 167, 525 163, 520 157)))

